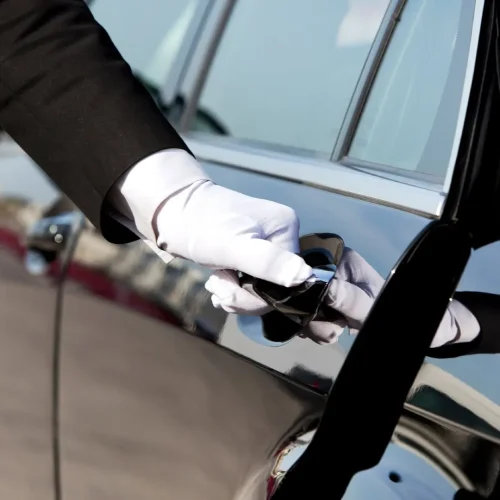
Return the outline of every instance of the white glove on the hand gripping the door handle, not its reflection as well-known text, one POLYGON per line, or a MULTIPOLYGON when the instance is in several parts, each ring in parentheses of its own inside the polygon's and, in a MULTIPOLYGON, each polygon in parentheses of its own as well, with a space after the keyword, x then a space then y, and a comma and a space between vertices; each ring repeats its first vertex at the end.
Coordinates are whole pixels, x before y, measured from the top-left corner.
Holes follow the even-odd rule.
POLYGON ((113 214, 168 263, 183 257, 293 286, 311 276, 295 255, 295 212, 215 185, 186 151, 154 153, 113 186, 113 214), (161 249, 161 250, 160 250, 161 249))

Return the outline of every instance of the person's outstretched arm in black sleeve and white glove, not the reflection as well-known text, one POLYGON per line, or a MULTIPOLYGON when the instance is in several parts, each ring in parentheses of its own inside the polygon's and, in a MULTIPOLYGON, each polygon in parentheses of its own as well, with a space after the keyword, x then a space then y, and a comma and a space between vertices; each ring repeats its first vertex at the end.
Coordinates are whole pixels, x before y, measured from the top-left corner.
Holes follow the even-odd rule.
POLYGON ((295 212, 211 182, 83 0, 0 0, 0 125, 113 243, 283 286, 311 276, 295 212))

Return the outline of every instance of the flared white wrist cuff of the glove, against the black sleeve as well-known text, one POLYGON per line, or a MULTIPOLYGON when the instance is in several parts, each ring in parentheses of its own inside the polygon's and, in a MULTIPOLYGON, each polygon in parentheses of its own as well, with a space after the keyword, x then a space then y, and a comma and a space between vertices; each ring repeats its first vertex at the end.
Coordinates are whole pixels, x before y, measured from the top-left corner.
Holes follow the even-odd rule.
POLYGON ((129 169, 111 189, 108 202, 145 239, 155 242, 153 217, 159 205, 194 182, 205 180, 210 177, 192 155, 182 149, 163 150, 129 169))

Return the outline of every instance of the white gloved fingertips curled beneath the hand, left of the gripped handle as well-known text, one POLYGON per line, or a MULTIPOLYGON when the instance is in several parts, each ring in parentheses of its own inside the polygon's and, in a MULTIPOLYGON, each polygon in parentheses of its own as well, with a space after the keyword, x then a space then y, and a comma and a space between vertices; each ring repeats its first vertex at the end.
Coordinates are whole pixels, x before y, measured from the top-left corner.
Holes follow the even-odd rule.
POLYGON ((234 271, 216 271, 205 283, 212 294, 212 304, 228 313, 260 316, 269 312, 269 307, 260 297, 239 286, 234 271))

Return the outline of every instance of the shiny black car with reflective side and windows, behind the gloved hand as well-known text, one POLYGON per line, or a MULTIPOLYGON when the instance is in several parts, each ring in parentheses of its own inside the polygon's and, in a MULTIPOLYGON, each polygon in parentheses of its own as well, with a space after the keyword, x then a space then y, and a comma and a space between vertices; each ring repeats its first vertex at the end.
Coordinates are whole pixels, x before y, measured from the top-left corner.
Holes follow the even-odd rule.
POLYGON ((500 294, 495 2, 89 3, 215 182, 390 279, 358 337, 273 342, 0 136, 0 496, 496 498, 498 354, 419 359, 500 294))

